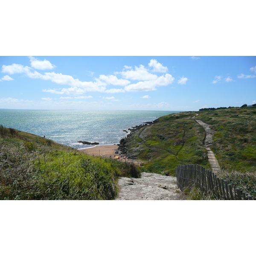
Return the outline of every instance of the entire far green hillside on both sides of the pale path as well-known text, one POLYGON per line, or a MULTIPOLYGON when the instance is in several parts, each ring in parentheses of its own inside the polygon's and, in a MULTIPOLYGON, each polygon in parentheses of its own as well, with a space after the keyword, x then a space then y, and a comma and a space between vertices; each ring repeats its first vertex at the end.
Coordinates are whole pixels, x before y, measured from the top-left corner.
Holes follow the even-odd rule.
POLYGON ((190 111, 162 116, 129 134, 119 149, 143 160, 143 171, 175 175, 177 164, 211 169, 203 142, 204 128, 190 117, 211 125, 212 151, 221 166, 219 177, 256 197, 256 107, 190 111))

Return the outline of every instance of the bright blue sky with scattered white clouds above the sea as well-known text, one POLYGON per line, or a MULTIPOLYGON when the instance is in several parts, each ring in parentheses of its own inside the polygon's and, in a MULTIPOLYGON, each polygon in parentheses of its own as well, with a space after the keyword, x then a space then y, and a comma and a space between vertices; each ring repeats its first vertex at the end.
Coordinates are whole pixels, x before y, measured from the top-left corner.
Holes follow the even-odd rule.
POLYGON ((198 111, 256 103, 255 56, 1 56, 0 108, 198 111))

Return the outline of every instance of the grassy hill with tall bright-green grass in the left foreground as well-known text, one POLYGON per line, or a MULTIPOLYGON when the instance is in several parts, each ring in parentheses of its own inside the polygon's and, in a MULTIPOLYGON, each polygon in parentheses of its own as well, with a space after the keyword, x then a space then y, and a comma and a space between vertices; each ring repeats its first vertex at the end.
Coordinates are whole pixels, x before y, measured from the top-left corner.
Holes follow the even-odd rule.
POLYGON ((0 126, 0 200, 110 200, 139 167, 0 126))

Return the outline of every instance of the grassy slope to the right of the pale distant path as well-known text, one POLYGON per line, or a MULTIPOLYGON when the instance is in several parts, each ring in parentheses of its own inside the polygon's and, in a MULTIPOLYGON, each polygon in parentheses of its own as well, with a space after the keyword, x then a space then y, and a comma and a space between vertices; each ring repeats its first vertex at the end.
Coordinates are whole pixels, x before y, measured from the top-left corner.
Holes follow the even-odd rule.
POLYGON ((256 166, 255 107, 198 113, 197 117, 208 121, 216 131, 211 149, 223 169, 247 172, 256 166))

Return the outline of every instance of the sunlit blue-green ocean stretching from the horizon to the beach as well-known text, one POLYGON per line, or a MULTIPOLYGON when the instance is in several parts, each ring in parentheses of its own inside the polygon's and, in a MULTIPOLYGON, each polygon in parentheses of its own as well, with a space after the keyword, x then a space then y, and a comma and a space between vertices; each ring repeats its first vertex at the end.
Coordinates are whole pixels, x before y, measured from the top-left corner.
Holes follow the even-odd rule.
POLYGON ((91 146, 78 143, 80 140, 118 144, 127 135, 123 130, 179 112, 0 109, 0 125, 82 149, 91 146))

